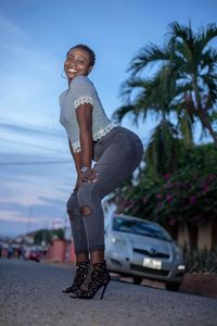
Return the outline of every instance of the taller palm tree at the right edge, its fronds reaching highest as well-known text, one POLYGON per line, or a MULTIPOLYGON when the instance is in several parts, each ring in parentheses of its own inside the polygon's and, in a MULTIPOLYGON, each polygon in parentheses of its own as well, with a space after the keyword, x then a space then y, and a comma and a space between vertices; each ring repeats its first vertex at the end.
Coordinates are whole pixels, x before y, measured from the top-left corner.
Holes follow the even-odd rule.
MULTIPOLYGON (((217 142, 217 135, 209 122, 217 104, 217 51, 209 46, 215 37, 215 24, 201 28, 194 35, 191 25, 184 27, 175 22, 169 25, 166 46, 150 45, 142 48, 132 59, 129 72, 133 80, 151 64, 157 65, 158 71, 167 71, 166 75, 163 74, 167 79, 165 85, 168 88, 173 83, 176 85, 174 100, 179 116, 186 115, 183 112, 180 114, 180 111, 187 111, 192 123, 200 120, 202 127, 207 128, 217 142)), ((133 88, 132 85, 127 91, 130 92, 133 88)))

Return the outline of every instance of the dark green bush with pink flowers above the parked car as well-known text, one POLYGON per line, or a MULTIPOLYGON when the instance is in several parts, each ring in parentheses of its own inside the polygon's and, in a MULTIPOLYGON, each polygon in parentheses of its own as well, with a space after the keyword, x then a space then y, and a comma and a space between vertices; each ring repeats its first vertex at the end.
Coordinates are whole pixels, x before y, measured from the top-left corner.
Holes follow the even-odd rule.
POLYGON ((175 226, 217 218, 217 151, 213 145, 186 150, 173 174, 153 178, 144 170, 136 186, 116 190, 118 212, 175 226))

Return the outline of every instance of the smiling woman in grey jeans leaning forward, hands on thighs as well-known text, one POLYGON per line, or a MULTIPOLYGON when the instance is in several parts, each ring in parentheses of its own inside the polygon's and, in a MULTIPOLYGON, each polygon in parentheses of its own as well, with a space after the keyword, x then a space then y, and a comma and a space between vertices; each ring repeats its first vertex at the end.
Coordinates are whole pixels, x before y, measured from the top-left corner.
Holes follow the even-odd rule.
POLYGON ((67 202, 76 252, 71 298, 91 299, 111 279, 104 261, 104 216, 101 200, 138 167, 143 147, 137 135, 106 116, 88 78, 95 61, 85 45, 69 49, 64 63, 68 89, 60 97, 60 122, 65 127, 77 172, 67 202), (92 166, 93 161, 95 162, 92 166))

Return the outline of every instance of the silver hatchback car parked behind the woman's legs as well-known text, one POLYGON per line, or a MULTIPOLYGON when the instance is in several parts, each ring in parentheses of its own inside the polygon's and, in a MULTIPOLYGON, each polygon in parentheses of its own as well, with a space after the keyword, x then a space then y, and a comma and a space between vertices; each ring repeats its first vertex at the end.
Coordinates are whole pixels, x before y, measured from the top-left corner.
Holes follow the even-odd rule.
POLYGON ((105 218, 105 260, 108 271, 162 280, 177 291, 186 272, 181 249, 158 224, 135 216, 105 218))

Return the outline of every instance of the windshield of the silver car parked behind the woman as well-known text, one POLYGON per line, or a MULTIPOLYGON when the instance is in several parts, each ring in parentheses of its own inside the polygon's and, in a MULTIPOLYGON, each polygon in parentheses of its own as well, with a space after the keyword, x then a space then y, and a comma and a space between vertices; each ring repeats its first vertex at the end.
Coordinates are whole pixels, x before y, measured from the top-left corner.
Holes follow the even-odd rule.
POLYGON ((122 231, 133 235, 141 235, 145 237, 156 238, 165 241, 171 241, 169 235, 164 229, 159 228, 155 224, 142 222, 133 218, 114 217, 113 229, 115 231, 122 231))

